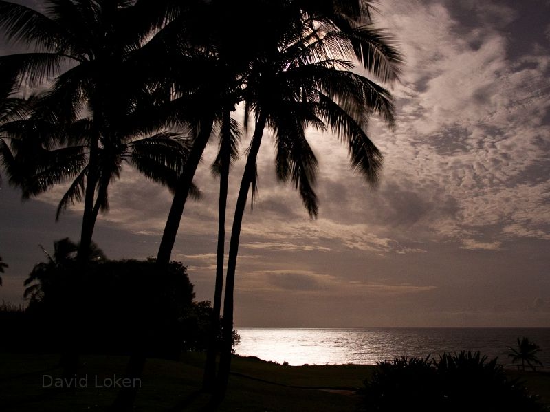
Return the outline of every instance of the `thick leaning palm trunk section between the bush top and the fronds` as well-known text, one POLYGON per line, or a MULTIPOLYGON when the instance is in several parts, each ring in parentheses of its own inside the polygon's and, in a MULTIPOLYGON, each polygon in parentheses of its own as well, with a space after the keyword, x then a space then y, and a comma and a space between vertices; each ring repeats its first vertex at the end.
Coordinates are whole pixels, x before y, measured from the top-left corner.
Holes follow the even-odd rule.
POLYGON ((184 173, 179 178, 178 187, 172 200, 172 206, 170 207, 170 213, 168 213, 168 219, 166 219, 166 226, 164 226, 159 251, 157 252, 158 265, 166 266, 170 263, 172 249, 176 240, 177 230, 179 229, 181 215, 184 213, 189 188, 195 176, 195 171, 197 171, 197 166, 199 166, 199 162, 201 161, 202 153, 208 143, 208 138, 210 138, 212 122, 212 118, 201 121, 200 130, 186 161, 184 173))

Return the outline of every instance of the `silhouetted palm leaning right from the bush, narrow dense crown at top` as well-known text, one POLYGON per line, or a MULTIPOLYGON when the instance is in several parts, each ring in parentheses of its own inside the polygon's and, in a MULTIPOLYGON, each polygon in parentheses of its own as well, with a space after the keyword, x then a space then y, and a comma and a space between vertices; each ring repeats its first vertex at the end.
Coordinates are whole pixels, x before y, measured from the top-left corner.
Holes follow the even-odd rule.
POLYGON ((254 47, 238 47, 238 43, 232 41, 241 33, 244 36, 245 29, 251 29, 250 20, 242 15, 241 20, 236 20, 239 18, 236 10, 243 10, 239 3, 215 0, 192 3, 188 9, 179 10, 174 20, 185 33, 183 38, 167 39, 168 43, 177 43, 177 47, 170 47, 170 52, 175 54, 173 59, 178 59, 179 55, 191 56, 181 64, 184 72, 173 76, 173 81, 175 89, 183 92, 177 99, 182 103, 176 110, 192 124, 196 137, 166 219, 157 252, 159 265, 167 265, 170 261, 188 190, 214 125, 221 124, 223 112, 234 110, 241 100, 243 72, 254 47), (228 36, 228 32, 232 32, 232 36, 228 36))

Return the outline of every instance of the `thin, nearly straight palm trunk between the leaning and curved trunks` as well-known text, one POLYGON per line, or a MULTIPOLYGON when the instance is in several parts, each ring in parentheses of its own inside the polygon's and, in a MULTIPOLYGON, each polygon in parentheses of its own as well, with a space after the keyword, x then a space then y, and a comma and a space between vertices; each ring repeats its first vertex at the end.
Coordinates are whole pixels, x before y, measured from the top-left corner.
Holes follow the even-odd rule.
POLYGON ((219 316, 221 312, 221 292, 223 290, 223 256, 225 254, 225 208, 228 200, 229 167, 231 163, 231 111, 223 111, 221 130, 221 170, 219 176, 219 200, 218 200, 218 246, 216 254, 216 285, 214 287, 214 304, 212 306, 212 318, 210 319, 210 331, 208 336, 208 349, 206 352, 206 364, 204 365, 203 389, 211 390, 216 380, 216 356, 217 340, 219 332, 219 316))

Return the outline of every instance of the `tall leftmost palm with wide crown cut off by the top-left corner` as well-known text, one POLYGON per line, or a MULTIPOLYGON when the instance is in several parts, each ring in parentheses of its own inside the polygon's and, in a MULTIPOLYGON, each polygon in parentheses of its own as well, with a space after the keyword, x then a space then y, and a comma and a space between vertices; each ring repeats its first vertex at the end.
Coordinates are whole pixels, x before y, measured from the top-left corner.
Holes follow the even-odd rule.
MULTIPOLYGON (((136 93, 150 91, 146 87, 146 68, 151 65, 146 45, 164 24, 149 15, 150 3, 50 0, 42 14, 0 1, 0 28, 8 39, 31 47, 30 52, 1 56, 3 71, 29 87, 51 80, 47 101, 55 122, 74 124, 85 111, 91 118, 87 167, 79 180, 84 199, 83 257, 91 243, 98 208, 107 205, 101 198, 105 184, 113 177, 100 172, 101 149, 117 146, 120 118, 132 111, 136 93)), ((134 119, 142 126, 137 122, 140 116, 134 119)), ((164 120, 153 122, 154 127, 164 120)))

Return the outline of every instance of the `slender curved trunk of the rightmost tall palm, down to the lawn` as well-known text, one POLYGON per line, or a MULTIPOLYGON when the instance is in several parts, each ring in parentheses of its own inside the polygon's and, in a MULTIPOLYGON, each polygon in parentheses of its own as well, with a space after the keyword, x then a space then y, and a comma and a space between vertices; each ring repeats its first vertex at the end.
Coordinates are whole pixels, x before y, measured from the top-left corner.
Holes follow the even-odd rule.
POLYGON ((260 144, 265 128, 266 119, 262 115, 256 121, 254 136, 250 144, 250 151, 246 160, 245 171, 239 188, 239 197, 236 200, 235 216, 231 229, 231 242, 229 246, 228 270, 225 276, 225 298, 223 299, 223 336, 221 357, 219 362, 219 379, 217 385, 217 398, 222 400, 228 386, 229 372, 231 369, 231 349, 233 338, 233 306, 234 306, 234 285, 236 258, 239 254, 239 238, 241 237, 241 225, 248 198, 250 184, 254 181, 256 175, 256 157, 260 149, 260 144))

